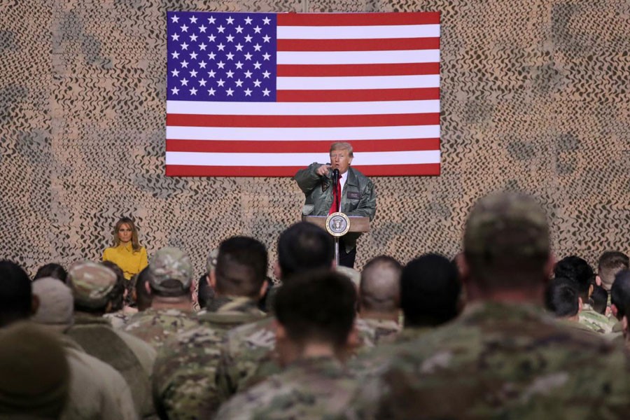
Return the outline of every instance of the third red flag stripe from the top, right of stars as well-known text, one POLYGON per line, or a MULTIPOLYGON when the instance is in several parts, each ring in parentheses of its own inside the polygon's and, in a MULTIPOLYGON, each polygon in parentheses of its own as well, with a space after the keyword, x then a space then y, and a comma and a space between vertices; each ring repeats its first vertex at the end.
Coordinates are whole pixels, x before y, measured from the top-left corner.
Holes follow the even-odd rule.
POLYGON ((413 64, 278 64, 278 77, 402 76, 440 74, 440 63, 413 64))

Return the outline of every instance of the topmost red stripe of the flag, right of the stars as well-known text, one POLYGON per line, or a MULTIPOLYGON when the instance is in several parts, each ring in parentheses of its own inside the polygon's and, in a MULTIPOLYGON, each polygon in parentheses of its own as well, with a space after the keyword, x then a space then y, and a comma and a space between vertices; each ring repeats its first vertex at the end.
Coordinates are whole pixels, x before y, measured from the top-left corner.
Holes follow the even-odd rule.
POLYGON ((440 12, 279 13, 278 26, 437 25, 440 12))

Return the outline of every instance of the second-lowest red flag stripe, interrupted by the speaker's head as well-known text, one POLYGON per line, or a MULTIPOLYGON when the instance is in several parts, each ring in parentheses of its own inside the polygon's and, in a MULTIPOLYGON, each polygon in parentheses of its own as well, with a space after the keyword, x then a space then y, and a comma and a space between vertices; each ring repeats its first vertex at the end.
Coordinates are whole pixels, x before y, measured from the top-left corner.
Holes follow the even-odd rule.
MULTIPOLYGON (((330 140, 173 140, 167 139, 167 152, 197 153, 322 153, 330 140)), ((355 152, 437 151, 440 139, 353 140, 355 152)))

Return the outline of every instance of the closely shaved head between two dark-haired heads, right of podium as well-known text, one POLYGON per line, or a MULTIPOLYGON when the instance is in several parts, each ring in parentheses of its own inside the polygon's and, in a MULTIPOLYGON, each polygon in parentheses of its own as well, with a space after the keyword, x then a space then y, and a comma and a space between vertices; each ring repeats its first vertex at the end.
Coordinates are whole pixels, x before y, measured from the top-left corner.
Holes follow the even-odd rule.
POLYGON ((368 261, 361 272, 360 311, 391 312, 400 309, 400 262, 387 255, 368 261))

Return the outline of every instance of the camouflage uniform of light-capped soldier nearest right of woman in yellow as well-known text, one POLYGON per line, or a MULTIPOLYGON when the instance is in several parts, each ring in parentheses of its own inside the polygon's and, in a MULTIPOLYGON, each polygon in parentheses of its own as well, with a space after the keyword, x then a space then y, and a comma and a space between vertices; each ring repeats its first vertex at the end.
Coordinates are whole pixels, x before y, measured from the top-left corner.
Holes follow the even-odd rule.
POLYGON ((197 326, 199 321, 192 312, 149 308, 129 318, 123 331, 160 349, 170 337, 197 326))

